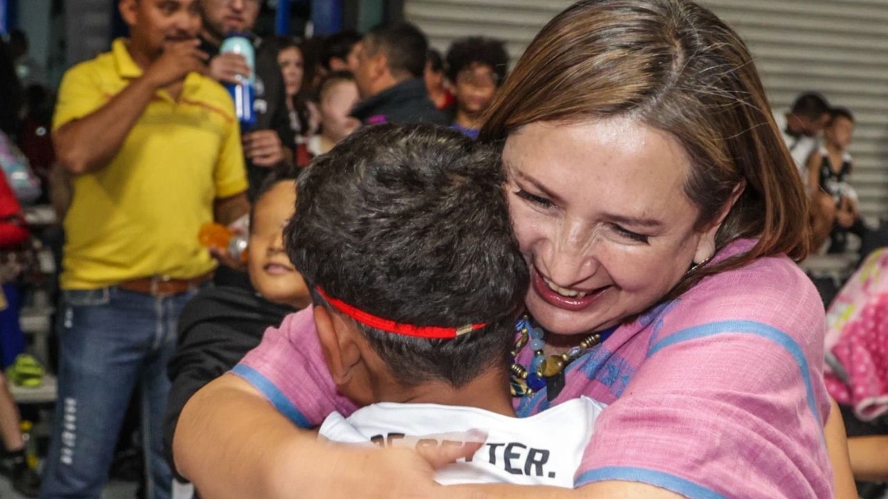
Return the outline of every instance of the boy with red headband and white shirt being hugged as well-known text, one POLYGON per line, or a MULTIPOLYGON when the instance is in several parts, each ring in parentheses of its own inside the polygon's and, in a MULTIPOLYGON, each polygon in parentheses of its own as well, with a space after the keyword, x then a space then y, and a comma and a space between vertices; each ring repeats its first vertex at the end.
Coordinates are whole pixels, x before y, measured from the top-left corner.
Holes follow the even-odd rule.
MULTIPOLYGON (((333 413, 320 433, 421 447, 466 445, 481 430, 483 447, 438 471, 440 483, 573 487, 601 406, 576 399, 515 417, 510 359, 528 271, 498 164, 456 131, 380 124, 305 170, 285 244, 338 392, 369 404, 333 413)), ((242 366, 234 372, 249 376, 242 366)))

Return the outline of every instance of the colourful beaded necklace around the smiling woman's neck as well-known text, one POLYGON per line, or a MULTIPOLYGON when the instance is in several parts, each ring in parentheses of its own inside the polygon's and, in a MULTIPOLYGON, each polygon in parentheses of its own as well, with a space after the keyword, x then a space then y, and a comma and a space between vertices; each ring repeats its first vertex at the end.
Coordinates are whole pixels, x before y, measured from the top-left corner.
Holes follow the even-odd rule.
POLYGON ((567 365, 583 355, 595 345, 599 345, 604 339, 614 332, 607 329, 585 337, 580 345, 574 346, 561 354, 546 355, 543 353, 545 331, 539 326, 534 326, 527 315, 521 317, 515 324, 515 331, 519 337, 515 340, 515 347, 511 351, 510 387, 512 397, 527 397, 546 388, 549 400, 558 396, 564 388, 564 371, 567 365), (525 345, 534 351, 534 358, 530 366, 525 368, 518 362, 518 353, 525 345))

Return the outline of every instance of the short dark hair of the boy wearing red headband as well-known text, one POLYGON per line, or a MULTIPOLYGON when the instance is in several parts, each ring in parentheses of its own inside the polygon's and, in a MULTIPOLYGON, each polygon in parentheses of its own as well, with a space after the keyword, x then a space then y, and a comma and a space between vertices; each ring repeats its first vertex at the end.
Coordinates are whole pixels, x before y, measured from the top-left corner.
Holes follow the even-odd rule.
POLYGON ((284 245, 309 289, 403 324, 487 322, 455 339, 358 324, 400 384, 459 387, 508 368, 529 276, 495 151, 431 124, 380 124, 315 158, 298 184, 284 245))

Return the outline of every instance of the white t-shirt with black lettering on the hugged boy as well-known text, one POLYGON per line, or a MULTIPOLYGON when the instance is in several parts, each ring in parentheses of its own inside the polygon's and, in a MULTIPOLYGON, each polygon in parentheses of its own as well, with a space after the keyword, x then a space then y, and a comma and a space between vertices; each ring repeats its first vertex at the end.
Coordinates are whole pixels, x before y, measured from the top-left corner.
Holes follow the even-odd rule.
POLYGON ((321 424, 320 433, 345 443, 416 447, 477 442, 484 440, 483 435, 470 431, 480 430, 488 434, 484 446, 472 461, 440 469, 435 475, 438 483, 573 488, 575 471, 603 408, 604 404, 582 397, 518 418, 480 408, 381 402, 347 418, 334 412, 321 424))

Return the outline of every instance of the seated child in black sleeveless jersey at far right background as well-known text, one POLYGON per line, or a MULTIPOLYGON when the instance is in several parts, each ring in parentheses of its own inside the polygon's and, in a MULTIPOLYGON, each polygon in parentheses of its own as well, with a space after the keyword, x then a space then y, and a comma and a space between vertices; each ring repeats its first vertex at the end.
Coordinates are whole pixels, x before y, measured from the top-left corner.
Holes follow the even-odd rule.
POLYGON ((829 111, 823 129, 823 146, 808 157, 808 185, 812 192, 829 194, 836 206, 835 222, 829 234, 830 253, 842 253, 849 232, 862 233, 857 193, 849 183, 854 162, 848 147, 854 133, 854 116, 844 107, 829 111))

